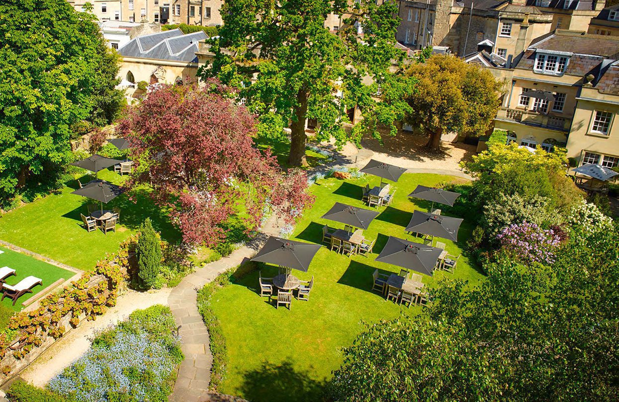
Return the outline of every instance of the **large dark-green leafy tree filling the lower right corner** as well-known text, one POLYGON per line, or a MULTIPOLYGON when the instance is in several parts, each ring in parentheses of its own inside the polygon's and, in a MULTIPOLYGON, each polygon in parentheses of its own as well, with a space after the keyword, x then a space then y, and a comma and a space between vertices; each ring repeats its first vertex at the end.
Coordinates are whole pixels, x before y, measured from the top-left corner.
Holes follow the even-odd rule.
POLYGON ((616 401, 619 236, 579 225, 552 266, 501 258, 478 288, 444 283, 422 315, 368 327, 334 399, 616 401))

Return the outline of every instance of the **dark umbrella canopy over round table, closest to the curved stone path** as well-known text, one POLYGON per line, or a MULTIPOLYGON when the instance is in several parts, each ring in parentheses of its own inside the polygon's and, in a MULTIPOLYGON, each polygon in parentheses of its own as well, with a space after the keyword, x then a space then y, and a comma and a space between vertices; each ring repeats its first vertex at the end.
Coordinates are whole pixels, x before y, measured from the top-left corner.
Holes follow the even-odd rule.
POLYGON ((251 261, 268 262, 308 272, 309 263, 320 248, 319 245, 271 236, 251 261))

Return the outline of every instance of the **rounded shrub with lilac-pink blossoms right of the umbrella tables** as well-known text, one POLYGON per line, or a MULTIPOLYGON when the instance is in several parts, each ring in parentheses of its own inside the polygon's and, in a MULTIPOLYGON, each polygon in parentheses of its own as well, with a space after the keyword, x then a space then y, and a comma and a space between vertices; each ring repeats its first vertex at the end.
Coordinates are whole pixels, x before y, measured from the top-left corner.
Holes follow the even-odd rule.
POLYGON ((536 224, 522 222, 504 228, 496 237, 503 248, 513 253, 519 261, 552 264, 561 241, 552 229, 545 230, 536 224))

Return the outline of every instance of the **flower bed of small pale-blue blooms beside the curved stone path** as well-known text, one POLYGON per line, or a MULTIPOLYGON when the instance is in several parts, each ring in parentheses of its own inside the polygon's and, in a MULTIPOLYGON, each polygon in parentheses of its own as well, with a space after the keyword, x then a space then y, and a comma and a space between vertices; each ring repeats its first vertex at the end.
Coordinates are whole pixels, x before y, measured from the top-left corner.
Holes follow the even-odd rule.
POLYGON ((93 340, 91 348, 56 375, 48 388, 77 401, 160 401, 172 390, 183 361, 170 309, 133 312, 93 340))

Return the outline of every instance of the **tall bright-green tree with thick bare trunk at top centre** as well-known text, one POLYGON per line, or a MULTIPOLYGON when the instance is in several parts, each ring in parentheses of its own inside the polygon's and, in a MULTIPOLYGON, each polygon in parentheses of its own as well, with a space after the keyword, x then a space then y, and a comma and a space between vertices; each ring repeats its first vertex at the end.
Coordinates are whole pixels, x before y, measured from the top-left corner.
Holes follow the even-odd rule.
POLYGON ((307 119, 318 122, 319 140, 334 137, 338 145, 358 143, 365 132, 379 138, 383 127, 395 135, 413 81, 400 69, 405 53, 394 46, 395 2, 227 0, 222 15, 214 61, 202 75, 240 88, 259 115, 259 135, 283 138, 290 126, 290 164, 306 164, 307 119), (325 27, 329 14, 341 16, 335 33, 325 27), (342 122, 353 107, 363 121, 347 133, 342 122))

